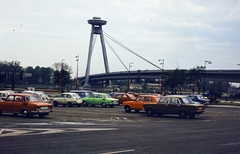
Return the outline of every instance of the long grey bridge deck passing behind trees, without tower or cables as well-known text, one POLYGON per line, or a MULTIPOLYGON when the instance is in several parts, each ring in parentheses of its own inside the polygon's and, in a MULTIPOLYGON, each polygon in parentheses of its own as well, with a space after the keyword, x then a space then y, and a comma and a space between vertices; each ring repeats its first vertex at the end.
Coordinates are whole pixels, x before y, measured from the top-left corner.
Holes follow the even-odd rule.
MULTIPOLYGON (((137 70, 137 71, 120 71, 93 74, 89 76, 90 82, 102 82, 113 80, 146 80, 146 79, 161 79, 162 74, 167 76, 173 70, 137 70)), ((208 81, 223 81, 240 83, 240 70, 206 70, 199 74, 200 78, 205 78, 208 81)), ((79 77, 81 82, 85 82, 85 76, 79 77)))

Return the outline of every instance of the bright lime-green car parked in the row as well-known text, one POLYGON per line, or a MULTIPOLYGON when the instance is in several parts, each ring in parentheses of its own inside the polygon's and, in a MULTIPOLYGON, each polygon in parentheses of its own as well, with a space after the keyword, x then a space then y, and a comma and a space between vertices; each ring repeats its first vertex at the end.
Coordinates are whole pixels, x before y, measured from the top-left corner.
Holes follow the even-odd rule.
POLYGON ((83 106, 101 105, 102 107, 114 107, 118 105, 118 99, 112 98, 109 94, 105 93, 92 93, 89 97, 82 98, 83 106))

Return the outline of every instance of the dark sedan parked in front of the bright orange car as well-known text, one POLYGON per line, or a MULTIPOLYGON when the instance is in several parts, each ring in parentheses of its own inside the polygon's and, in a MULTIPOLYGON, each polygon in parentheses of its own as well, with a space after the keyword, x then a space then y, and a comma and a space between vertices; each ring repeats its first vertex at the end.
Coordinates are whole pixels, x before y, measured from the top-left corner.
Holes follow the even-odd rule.
POLYGON ((194 118, 205 110, 203 104, 194 103, 187 95, 163 96, 157 104, 144 104, 143 107, 148 116, 178 114, 180 118, 194 118))

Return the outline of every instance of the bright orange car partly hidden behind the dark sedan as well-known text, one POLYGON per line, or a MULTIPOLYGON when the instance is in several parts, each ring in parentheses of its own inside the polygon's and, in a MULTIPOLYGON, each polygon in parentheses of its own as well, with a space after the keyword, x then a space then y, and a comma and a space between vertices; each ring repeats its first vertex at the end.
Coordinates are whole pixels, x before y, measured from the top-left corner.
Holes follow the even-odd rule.
POLYGON ((123 102, 123 108, 125 112, 139 112, 143 110, 143 104, 156 104, 161 99, 160 95, 139 95, 135 101, 123 102))

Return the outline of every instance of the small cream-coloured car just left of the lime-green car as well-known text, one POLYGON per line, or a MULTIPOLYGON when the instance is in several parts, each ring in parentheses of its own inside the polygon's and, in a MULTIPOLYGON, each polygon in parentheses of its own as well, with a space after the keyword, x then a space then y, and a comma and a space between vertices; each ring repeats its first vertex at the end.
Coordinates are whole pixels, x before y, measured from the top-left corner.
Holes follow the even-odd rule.
POLYGON ((60 94, 60 97, 52 98, 54 106, 62 105, 72 107, 76 105, 80 107, 82 105, 82 98, 76 93, 64 92, 60 94))

